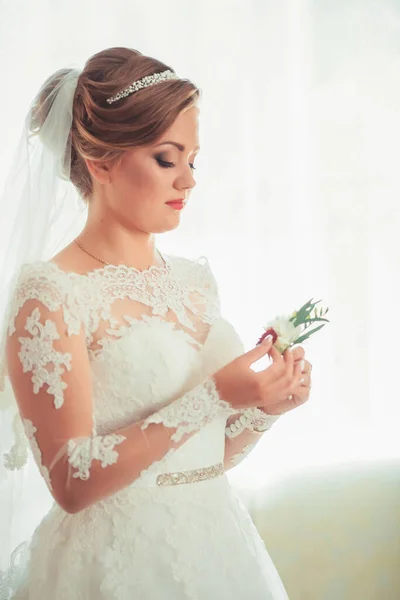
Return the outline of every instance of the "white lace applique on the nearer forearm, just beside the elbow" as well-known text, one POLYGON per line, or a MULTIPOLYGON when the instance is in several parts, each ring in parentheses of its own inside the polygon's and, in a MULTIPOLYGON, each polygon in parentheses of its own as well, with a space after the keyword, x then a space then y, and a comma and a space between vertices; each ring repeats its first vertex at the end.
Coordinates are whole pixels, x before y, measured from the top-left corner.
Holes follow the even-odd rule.
POLYGON ((126 440, 125 436, 115 433, 98 435, 84 440, 69 440, 67 446, 68 462, 77 470, 73 477, 82 479, 82 481, 89 479, 90 467, 94 460, 101 461, 103 468, 115 464, 119 455, 114 448, 124 440, 126 440))

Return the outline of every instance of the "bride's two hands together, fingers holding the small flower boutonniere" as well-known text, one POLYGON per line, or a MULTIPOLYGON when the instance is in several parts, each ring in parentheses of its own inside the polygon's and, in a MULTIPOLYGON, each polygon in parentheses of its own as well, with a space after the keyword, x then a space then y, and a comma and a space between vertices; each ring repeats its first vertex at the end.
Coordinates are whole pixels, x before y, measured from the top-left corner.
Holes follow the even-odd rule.
POLYGON ((299 405, 293 395, 303 377, 304 361, 295 363, 291 349, 280 354, 272 336, 217 371, 213 378, 223 400, 233 408, 258 407, 269 415, 279 415, 299 405), (269 354, 272 363, 256 373, 251 365, 269 354), (292 396, 292 398, 290 398, 292 396))

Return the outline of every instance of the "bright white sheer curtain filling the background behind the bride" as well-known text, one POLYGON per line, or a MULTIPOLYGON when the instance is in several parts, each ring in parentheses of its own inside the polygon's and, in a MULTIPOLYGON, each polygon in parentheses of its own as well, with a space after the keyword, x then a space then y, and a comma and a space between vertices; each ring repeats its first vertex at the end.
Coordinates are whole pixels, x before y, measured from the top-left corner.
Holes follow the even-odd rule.
POLYGON ((248 349, 277 314, 329 305, 311 400, 231 472, 246 490, 400 454, 399 34, 399 0, 0 2, 0 183, 50 73, 139 49, 203 90, 198 185, 160 248, 208 256, 248 349))

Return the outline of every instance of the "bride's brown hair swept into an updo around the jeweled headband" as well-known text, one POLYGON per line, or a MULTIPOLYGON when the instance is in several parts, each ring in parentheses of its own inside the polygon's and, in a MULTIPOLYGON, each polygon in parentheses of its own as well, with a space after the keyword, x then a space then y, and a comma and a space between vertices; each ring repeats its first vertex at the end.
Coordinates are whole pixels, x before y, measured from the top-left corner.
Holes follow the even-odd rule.
MULTIPOLYGON (((187 79, 172 79, 107 103, 120 90, 146 75, 171 69, 129 48, 109 48, 86 62, 75 91, 71 126, 70 179, 82 198, 90 200, 92 179, 85 159, 117 162, 124 152, 152 144, 172 125, 179 113, 200 96, 187 79)), ((31 131, 40 128, 51 108, 46 99, 72 69, 61 69, 42 85, 31 113, 31 131)))

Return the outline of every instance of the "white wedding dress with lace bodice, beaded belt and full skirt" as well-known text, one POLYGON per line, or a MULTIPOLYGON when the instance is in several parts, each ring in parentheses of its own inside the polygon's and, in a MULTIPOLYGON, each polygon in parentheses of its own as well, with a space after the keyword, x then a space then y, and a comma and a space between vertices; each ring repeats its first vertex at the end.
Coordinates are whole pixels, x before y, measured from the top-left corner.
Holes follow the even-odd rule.
MULTIPOLYGON (((66 324, 73 328, 78 320, 85 330, 96 435, 149 416, 163 422, 162 408, 194 389, 203 401, 210 389, 203 382, 244 351, 220 315, 215 280, 204 258, 169 256, 164 267, 143 272, 106 266, 87 275, 37 262, 23 268, 12 321, 32 298, 49 310, 65 302, 70 308, 64 311, 66 324)), ((45 339, 36 330, 34 341, 31 352, 40 352, 40 343, 48 347, 49 335, 45 339)), ((226 474, 218 471, 228 416, 221 405, 183 445, 131 485, 88 508, 70 514, 54 503, 32 540, 18 551, 18 565, 2 574, 0 598, 287 599, 248 512, 226 474), (159 475, 207 467, 213 473, 208 479, 157 484, 159 475)), ((34 424, 24 424, 47 480, 34 424)), ((240 436, 235 439, 240 445, 240 436)), ((104 449, 105 469, 113 460, 108 458, 104 449)))

